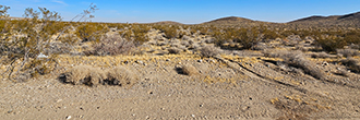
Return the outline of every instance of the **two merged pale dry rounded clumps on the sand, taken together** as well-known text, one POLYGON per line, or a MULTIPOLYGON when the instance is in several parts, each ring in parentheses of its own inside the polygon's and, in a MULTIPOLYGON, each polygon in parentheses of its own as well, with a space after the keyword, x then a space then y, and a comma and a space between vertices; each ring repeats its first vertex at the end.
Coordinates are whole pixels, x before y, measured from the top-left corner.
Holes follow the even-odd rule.
POLYGON ((123 67, 101 70, 91 65, 77 65, 60 75, 59 80, 63 83, 71 83, 74 85, 85 84, 88 86, 96 86, 98 84, 108 84, 131 86, 136 83, 139 77, 132 71, 123 67))

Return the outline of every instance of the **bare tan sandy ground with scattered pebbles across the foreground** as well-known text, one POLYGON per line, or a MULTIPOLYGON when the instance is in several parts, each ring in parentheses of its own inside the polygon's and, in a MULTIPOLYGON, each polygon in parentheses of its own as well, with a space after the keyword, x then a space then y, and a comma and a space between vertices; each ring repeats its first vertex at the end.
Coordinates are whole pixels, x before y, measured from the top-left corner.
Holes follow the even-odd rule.
POLYGON ((59 74, 25 83, 1 81, 0 118, 360 119, 358 77, 334 75, 347 84, 326 82, 280 71, 262 58, 228 60, 130 61, 124 65, 140 76, 131 87, 64 84, 59 74), (177 71, 185 63, 200 75, 177 71))

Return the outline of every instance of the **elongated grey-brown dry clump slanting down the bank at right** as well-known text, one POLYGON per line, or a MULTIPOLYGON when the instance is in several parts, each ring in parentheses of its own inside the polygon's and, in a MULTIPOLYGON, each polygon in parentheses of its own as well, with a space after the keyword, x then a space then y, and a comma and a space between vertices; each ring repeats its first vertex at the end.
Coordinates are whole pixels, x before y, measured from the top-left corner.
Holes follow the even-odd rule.
POLYGON ((305 59, 305 56, 301 51, 293 51, 288 52, 281 56, 284 61, 292 67, 302 69, 307 74, 310 74, 311 76, 324 80, 325 79, 325 72, 322 71, 320 68, 316 68, 316 64, 308 59, 305 59))

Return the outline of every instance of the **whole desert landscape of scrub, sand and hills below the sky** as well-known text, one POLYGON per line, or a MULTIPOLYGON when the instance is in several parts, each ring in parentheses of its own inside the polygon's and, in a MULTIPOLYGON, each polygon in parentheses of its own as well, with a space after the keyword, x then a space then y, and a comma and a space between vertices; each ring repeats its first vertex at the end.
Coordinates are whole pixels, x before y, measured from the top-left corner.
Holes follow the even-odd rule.
POLYGON ((27 99, 1 98, 0 117, 103 107, 123 119, 360 117, 360 17, 140 24, 63 22, 45 8, 11 20, 0 9, 0 91, 27 99))

